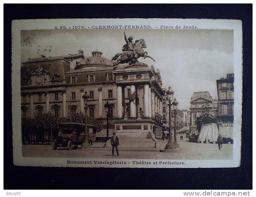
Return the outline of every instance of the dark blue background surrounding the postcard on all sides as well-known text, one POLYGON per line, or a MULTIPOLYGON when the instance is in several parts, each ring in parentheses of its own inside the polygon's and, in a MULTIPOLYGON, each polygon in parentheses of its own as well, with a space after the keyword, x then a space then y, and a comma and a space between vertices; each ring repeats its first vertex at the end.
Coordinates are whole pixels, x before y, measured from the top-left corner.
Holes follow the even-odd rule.
POLYGON ((252 4, 5 4, 4 189, 252 189, 252 4), (39 168, 12 163, 11 20, 54 18, 239 19, 243 27, 239 168, 39 168))

